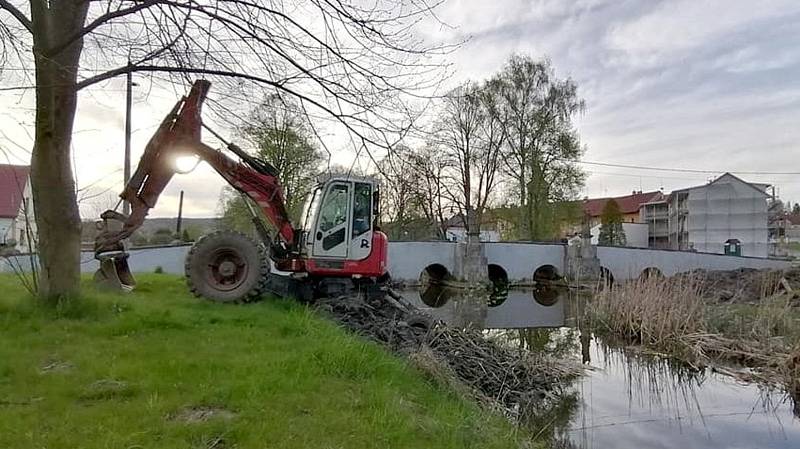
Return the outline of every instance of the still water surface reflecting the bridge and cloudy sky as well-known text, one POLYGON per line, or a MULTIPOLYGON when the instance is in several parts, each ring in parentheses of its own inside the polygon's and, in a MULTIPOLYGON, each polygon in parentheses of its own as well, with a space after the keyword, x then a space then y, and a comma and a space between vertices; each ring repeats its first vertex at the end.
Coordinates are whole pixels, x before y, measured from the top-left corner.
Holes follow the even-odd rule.
POLYGON ((800 447, 800 420, 791 398, 606 342, 580 325, 580 298, 561 294, 542 301, 535 288, 506 289, 498 295, 502 300, 488 292, 482 300, 475 292, 471 295, 451 290, 435 295, 409 291, 404 296, 435 318, 455 324, 476 320, 493 329, 488 335, 501 343, 587 366, 572 385, 521 411, 520 420, 546 446, 800 447))

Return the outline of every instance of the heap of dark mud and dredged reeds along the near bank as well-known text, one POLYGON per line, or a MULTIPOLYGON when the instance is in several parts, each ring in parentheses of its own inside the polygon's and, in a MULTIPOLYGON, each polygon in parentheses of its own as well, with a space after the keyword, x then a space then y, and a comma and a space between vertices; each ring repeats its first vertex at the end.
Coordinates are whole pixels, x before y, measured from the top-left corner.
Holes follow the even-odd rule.
POLYGON ((580 374, 576 364, 500 346, 480 331, 449 327, 396 301, 340 297, 318 306, 348 329, 408 356, 437 380, 466 386, 477 399, 516 414, 547 407, 580 374))

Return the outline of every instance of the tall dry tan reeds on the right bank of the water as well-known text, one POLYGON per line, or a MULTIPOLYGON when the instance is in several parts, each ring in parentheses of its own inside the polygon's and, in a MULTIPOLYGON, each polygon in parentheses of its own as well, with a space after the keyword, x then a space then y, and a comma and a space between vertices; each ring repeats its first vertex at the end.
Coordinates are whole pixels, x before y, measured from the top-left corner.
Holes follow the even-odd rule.
POLYGON ((800 315, 781 276, 764 273, 753 304, 720 304, 702 276, 650 277, 597 292, 596 330, 677 356, 693 366, 715 361, 757 368, 755 377, 800 394, 800 315))

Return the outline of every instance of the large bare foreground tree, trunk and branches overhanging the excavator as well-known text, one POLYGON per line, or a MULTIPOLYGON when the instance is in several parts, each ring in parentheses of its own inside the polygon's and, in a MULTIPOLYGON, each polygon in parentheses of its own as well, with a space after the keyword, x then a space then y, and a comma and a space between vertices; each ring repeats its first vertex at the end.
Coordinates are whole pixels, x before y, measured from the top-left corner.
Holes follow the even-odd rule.
MULTIPOLYGON (((436 1, 436 0, 434 0, 436 1)), ((0 0, 3 62, 35 80, 32 183, 42 268, 40 295, 79 293, 80 217, 70 166, 78 92, 129 72, 154 79, 234 80, 296 98, 339 121, 363 145, 404 128, 400 92, 438 80, 414 25, 434 17, 425 0, 0 0), (11 19, 11 20, 9 20, 11 19), (428 83, 426 80, 432 80, 428 83)), ((16 86, 26 88, 30 86, 16 86)))

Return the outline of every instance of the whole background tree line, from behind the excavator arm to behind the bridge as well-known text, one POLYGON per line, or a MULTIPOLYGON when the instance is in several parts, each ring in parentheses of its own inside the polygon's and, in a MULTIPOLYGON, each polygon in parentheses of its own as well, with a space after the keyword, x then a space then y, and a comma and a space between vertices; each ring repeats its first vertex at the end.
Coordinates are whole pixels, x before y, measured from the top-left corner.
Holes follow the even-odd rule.
MULTIPOLYGON (((584 184, 576 164, 584 149, 574 120, 584 108, 575 82, 559 79, 548 60, 528 56, 512 56, 484 81, 458 85, 434 104, 422 138, 394 145, 374 167, 384 230, 394 240, 443 239, 453 217, 478 232, 491 213, 510 225, 506 238, 556 238, 561 222, 581 218, 572 200, 584 184)), ((324 158, 307 117, 294 110, 268 99, 240 135, 279 169, 297 220, 324 158)), ((251 230, 245 201, 223 192, 225 226, 251 230)))

